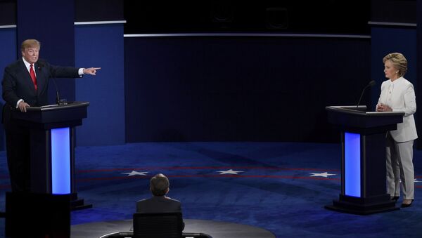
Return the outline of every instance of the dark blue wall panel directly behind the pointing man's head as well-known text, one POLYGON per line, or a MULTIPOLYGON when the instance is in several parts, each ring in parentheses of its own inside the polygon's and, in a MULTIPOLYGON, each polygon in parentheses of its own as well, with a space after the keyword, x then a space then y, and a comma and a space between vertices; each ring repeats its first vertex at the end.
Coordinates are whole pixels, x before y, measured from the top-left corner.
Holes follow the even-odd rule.
MULTIPOLYGON (((41 42, 40 58, 53 65, 75 65, 75 3, 73 0, 20 0, 18 11, 18 52, 25 39, 41 42), (34 7, 36 6, 36 7, 34 7)), ((74 79, 57 80, 62 98, 75 100, 74 79)), ((49 100, 55 102, 56 89, 49 87, 49 100)))

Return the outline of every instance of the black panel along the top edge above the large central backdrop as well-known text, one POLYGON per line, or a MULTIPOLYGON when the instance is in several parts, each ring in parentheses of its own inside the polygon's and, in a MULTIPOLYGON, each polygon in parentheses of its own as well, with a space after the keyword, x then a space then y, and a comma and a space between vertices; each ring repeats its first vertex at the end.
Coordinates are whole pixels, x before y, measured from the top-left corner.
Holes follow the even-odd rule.
POLYGON ((125 34, 307 32, 369 34, 370 1, 124 1, 125 34))

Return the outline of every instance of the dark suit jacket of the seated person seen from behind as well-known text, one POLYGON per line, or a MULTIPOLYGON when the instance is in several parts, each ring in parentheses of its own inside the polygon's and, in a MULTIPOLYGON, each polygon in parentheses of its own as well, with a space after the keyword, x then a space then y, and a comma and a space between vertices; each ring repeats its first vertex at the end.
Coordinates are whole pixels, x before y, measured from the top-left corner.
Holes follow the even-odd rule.
POLYGON ((136 201, 136 212, 169 213, 181 212, 181 203, 165 196, 153 196, 150 199, 136 201))

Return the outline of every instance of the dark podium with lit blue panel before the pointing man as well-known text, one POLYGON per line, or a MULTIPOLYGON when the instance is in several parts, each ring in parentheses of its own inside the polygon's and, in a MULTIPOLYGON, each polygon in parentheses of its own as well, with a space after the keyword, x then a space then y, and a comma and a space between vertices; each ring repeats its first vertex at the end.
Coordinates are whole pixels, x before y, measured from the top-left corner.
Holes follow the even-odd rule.
POLYGON ((28 107, 12 112, 13 119, 30 129, 31 192, 69 194, 72 210, 86 209, 75 187, 75 126, 87 118, 87 102, 28 107))

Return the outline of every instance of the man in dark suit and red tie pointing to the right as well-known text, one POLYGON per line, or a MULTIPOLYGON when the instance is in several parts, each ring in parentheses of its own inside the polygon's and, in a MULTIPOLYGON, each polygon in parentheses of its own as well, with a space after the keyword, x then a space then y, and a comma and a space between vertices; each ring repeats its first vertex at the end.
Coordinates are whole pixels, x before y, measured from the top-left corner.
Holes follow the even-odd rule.
POLYGON ((96 75, 100 68, 75 68, 50 65, 39 60, 41 44, 35 39, 23 41, 22 58, 4 69, 3 123, 6 132, 6 152, 12 192, 30 192, 30 131, 11 118, 13 110, 26 112, 27 107, 48 105, 51 77, 76 78, 96 75))

